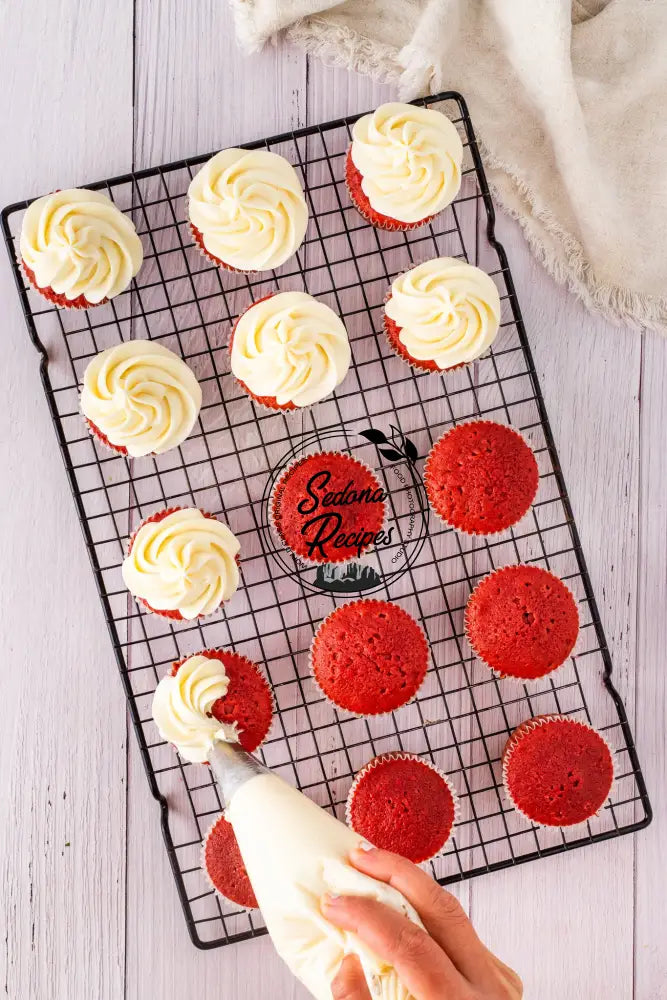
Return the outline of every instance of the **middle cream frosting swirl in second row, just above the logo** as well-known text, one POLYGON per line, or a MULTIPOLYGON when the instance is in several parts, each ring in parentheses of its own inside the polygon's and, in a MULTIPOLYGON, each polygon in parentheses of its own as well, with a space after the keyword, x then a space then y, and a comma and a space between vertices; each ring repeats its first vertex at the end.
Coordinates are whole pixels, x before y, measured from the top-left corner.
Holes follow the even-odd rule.
POLYGON ((305 292, 256 302, 234 330, 232 372, 255 396, 309 406, 330 395, 350 367, 340 318, 305 292))

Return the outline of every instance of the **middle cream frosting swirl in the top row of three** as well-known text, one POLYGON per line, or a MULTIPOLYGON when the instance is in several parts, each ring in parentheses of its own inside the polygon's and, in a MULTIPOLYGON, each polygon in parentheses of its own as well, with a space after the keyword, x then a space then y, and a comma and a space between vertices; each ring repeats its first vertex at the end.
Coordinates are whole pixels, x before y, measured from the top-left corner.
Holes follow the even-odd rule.
POLYGON ((266 149, 223 149, 188 188, 190 222, 206 250, 239 271, 268 271, 292 256, 308 224, 294 167, 266 149))

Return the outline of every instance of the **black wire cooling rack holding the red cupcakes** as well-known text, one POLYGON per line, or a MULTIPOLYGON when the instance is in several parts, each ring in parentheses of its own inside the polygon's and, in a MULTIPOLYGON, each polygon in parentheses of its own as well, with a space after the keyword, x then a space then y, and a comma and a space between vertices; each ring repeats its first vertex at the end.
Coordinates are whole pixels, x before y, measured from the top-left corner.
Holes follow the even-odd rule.
MULTIPOLYGON (((199 947, 264 933, 257 911, 226 904, 206 883, 200 846, 220 811, 216 787, 205 767, 178 759, 151 719, 159 677, 173 660, 205 647, 231 646, 265 666, 277 712, 262 756, 339 817, 355 771, 375 754, 403 749, 444 769, 458 790, 461 817, 445 852, 431 862, 442 883, 639 830, 651 819, 512 276, 495 239, 494 209, 472 124, 456 94, 416 103, 449 115, 464 140, 465 160, 454 204, 409 233, 375 230, 349 202, 344 158, 358 116, 248 144, 286 156, 309 201, 304 244, 270 275, 221 272, 193 245, 185 194, 208 155, 89 185, 131 215, 145 250, 131 288, 94 309, 55 309, 27 286, 16 252, 28 203, 11 205, 2 215, 146 775, 159 803, 188 930, 199 947), (382 333, 390 280, 436 255, 478 263, 497 283, 502 302, 501 330, 489 356, 446 377, 416 374, 392 353, 382 333), (234 318, 278 287, 303 289, 330 304, 352 343, 354 362, 343 384, 330 400, 302 414, 256 409, 229 374, 225 347, 234 318), (179 449, 134 461, 94 443, 78 412, 78 387, 90 358, 130 337, 159 339, 182 355, 204 395, 196 432, 179 449), (533 508, 513 530, 471 540, 429 519, 419 471, 431 443, 448 426, 479 415, 523 432, 538 459, 540 487, 533 508), (362 435, 369 428, 388 439, 385 454, 362 435), (376 556, 366 575, 379 595, 416 615, 430 642, 431 666, 417 700, 387 717, 354 718, 318 693, 308 672, 310 639, 345 593, 322 589, 312 569, 278 549, 268 527, 267 491, 276 470, 290 455, 332 442, 353 450, 384 477, 398 543, 383 557, 389 564, 376 556), (220 514, 241 541, 243 585, 224 611, 202 622, 171 624, 144 613, 128 597, 120 575, 132 528, 155 510, 177 504, 220 514), (402 562, 392 575, 391 559, 401 546, 402 562), (576 655, 530 686, 494 677, 471 655, 463 634, 471 588, 489 570, 517 561, 535 562, 565 579, 581 617, 576 655), (546 712, 590 722, 615 752, 612 797, 584 828, 534 827, 502 791, 500 756, 508 734, 524 719, 546 712)), ((355 583, 347 580, 344 586, 349 596, 355 583)))

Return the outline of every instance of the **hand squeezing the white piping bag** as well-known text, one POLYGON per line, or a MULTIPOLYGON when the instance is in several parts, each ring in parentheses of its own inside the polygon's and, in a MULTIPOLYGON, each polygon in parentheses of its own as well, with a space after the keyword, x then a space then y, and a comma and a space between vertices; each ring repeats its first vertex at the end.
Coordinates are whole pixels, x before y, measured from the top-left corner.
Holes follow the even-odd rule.
MULTIPOLYGON (((415 1000, 521 1000, 523 986, 517 974, 482 944, 456 897, 430 875, 377 848, 355 850, 350 861, 360 872, 402 893, 425 930, 383 903, 361 896, 325 896, 322 912, 391 962, 415 1000)), ((356 955, 346 956, 331 986, 333 1000, 372 1000, 356 955)))

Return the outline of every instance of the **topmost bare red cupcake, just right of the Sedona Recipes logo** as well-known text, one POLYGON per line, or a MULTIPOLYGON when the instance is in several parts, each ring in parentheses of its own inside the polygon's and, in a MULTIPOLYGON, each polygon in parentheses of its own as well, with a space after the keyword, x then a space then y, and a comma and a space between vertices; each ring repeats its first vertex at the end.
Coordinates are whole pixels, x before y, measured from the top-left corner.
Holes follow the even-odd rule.
POLYGON ((538 482, 535 456, 521 435, 491 420, 453 427, 433 445, 424 466, 435 513, 472 535, 491 535, 520 521, 538 482))

